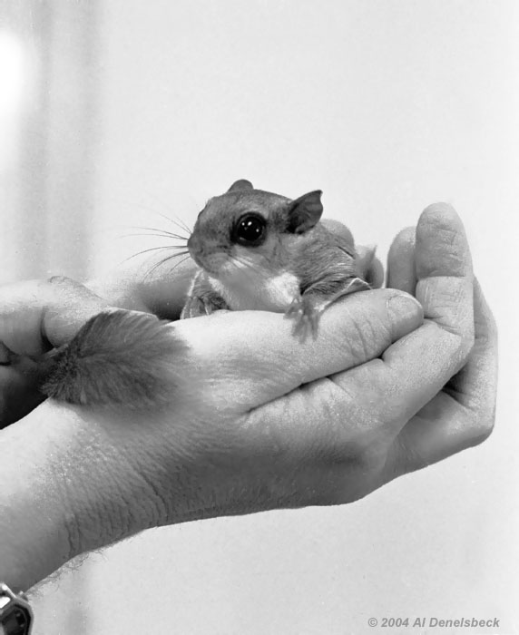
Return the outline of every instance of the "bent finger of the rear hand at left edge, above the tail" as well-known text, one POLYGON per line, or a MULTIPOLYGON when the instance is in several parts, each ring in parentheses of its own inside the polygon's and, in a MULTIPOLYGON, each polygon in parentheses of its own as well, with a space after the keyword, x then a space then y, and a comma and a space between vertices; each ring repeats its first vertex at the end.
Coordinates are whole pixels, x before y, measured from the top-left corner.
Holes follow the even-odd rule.
POLYGON ((0 339, 17 355, 37 356, 68 341, 107 304, 68 278, 0 288, 0 339))

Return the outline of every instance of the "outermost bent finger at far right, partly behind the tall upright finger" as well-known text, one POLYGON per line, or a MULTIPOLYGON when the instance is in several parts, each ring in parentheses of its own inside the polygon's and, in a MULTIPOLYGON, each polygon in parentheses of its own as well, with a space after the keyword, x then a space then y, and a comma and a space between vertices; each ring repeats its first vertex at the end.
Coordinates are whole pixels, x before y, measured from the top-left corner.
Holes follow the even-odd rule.
POLYGON ((406 472, 476 445, 492 431, 497 392, 497 329, 475 284, 475 346, 463 369, 397 438, 396 464, 406 472))

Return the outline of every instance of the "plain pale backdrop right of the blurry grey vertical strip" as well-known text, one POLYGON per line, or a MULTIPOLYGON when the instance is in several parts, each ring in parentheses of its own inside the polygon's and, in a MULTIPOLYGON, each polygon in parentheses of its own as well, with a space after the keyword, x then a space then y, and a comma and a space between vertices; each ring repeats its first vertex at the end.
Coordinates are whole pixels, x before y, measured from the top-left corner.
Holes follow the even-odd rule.
MULTIPOLYGON (((115 239, 123 225, 168 229, 155 212, 191 223, 239 178, 293 198, 324 190, 325 214, 383 257, 446 200, 495 310, 501 376, 485 444, 365 500, 151 531, 94 556, 65 594, 81 632, 400 632, 369 629, 385 616, 498 618, 498 630, 463 632, 519 632, 519 5, 109 0, 98 11, 86 273, 139 249, 115 239)), ((42 591, 42 611, 58 586, 42 591)), ((57 614, 47 609, 42 633, 61 632, 57 614)))

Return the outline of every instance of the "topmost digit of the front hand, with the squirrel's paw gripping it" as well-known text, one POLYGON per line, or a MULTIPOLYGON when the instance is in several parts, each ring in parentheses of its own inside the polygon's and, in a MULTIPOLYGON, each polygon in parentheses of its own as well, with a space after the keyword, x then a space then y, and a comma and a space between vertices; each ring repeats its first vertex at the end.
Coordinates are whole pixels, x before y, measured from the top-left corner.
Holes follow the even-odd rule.
POLYGON ((414 298, 377 289, 332 305, 318 337, 304 342, 293 336, 291 320, 264 311, 181 320, 174 330, 188 344, 184 383, 203 390, 211 407, 240 413, 378 357, 420 324, 422 308, 414 298))

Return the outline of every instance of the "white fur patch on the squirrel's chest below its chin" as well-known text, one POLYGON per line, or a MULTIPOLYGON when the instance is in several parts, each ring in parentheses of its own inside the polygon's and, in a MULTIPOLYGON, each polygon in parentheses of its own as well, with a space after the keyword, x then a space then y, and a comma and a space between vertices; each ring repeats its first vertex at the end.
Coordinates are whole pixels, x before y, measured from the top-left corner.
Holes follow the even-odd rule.
POLYGON ((292 300, 299 297, 299 282, 292 273, 254 281, 249 277, 222 282, 209 278, 211 287, 223 298, 233 311, 247 309, 282 312, 289 308, 292 300))

